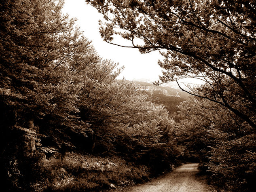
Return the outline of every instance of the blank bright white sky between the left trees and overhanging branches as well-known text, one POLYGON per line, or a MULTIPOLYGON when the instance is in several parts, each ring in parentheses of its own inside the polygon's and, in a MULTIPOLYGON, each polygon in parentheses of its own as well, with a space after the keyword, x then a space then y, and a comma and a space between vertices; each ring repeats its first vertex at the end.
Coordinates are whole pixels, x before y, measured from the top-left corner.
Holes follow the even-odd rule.
MULTIPOLYGON (((158 59, 161 58, 158 51, 141 54, 138 49, 123 48, 104 42, 99 34, 98 22, 103 17, 94 7, 86 4, 85 0, 65 0, 63 13, 68 13, 70 17, 78 19, 77 25, 84 31, 85 36, 92 40, 93 46, 100 57, 111 59, 119 63, 120 66, 125 66, 125 70, 118 78, 154 81, 161 75, 161 68, 157 64, 158 59)), ((118 38, 115 42, 126 43, 121 38, 118 38)))

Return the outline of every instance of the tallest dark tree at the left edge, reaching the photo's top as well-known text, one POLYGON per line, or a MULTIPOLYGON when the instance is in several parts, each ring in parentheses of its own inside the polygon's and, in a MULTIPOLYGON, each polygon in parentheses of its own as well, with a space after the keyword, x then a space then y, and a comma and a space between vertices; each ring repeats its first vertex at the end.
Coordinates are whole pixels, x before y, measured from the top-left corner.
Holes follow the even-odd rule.
POLYGON ((0 2, 0 172, 10 190, 29 188, 40 152, 71 145, 69 133, 88 129, 77 102, 83 77, 100 58, 62 5, 0 2))

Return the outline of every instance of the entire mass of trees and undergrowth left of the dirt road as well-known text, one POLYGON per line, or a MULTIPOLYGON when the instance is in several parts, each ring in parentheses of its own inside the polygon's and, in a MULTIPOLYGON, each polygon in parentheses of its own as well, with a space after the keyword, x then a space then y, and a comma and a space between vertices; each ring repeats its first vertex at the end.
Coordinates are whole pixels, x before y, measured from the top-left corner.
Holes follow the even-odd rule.
POLYGON ((104 190, 170 169, 182 148, 168 112, 116 80, 123 68, 97 55, 62 5, 0 2, 2 188, 104 190))

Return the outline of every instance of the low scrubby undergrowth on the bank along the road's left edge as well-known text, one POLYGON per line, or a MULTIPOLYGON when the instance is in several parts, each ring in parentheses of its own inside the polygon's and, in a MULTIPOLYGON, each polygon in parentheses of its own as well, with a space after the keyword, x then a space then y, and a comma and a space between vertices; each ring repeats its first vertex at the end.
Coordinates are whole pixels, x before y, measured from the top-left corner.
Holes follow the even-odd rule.
POLYGON ((127 186, 148 179, 146 166, 126 163, 118 157, 102 158, 73 152, 62 160, 41 158, 37 170, 40 182, 31 186, 34 191, 105 191, 111 188, 110 184, 127 186))

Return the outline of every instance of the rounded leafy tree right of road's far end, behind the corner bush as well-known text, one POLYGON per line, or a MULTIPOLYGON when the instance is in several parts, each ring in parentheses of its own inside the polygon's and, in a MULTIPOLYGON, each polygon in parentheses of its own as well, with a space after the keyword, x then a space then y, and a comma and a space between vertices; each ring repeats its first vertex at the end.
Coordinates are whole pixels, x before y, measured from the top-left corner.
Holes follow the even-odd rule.
POLYGON ((216 146, 221 135, 241 137, 248 130, 242 126, 243 120, 218 103, 192 97, 178 105, 178 109, 179 144, 186 147, 188 160, 207 162, 209 147, 216 146))

